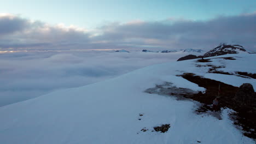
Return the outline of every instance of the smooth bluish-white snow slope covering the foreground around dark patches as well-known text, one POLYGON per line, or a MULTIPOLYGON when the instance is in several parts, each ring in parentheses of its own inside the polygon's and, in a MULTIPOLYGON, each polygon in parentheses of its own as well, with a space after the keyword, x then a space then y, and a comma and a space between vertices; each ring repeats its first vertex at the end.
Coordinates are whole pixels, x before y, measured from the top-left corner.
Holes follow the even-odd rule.
MULTIPOLYGON (((253 56, 241 55, 241 59, 253 56)), ((236 61, 240 60, 233 62, 236 61)), ((153 65, 114 79, 0 107, 0 143, 254 143, 232 125, 229 109, 223 110, 223 119, 219 120, 196 115, 195 101, 144 93, 164 82, 204 91, 176 76, 205 75, 205 70, 195 64, 196 59, 153 65), (166 133, 152 132, 161 124, 170 124, 171 128, 166 133), (141 131, 145 127, 149 130, 141 131)))

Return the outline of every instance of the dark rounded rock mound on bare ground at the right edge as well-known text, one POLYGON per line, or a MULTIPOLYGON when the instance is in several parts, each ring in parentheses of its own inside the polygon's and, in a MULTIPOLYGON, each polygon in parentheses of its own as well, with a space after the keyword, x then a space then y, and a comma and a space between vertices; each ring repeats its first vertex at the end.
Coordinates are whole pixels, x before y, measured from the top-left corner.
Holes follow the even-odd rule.
POLYGON ((255 93, 251 83, 243 83, 243 85, 241 85, 238 88, 235 100, 240 105, 248 105, 248 104, 255 105, 255 93))

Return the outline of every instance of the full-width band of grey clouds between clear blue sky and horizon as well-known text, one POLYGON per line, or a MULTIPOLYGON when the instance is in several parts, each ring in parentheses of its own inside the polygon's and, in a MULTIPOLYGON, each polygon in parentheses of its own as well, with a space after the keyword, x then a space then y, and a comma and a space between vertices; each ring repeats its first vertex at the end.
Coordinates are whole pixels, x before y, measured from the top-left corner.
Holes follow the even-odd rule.
POLYGON ((0 15, 0 47, 13 49, 212 49, 235 43, 256 49, 256 13, 220 16, 208 21, 167 19, 108 23, 88 30, 63 24, 51 26, 17 15, 0 15))

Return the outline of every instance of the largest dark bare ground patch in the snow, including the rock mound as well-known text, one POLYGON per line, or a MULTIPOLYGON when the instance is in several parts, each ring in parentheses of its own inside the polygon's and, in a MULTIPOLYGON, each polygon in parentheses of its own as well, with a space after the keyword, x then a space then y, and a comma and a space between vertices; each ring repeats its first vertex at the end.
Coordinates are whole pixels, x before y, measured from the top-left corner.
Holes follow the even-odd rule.
POLYGON ((223 82, 206 79, 192 73, 184 73, 179 76, 196 83, 200 87, 206 88, 205 93, 200 92, 194 94, 193 97, 187 97, 203 104, 196 110, 197 112, 211 110, 211 107, 207 105, 212 104, 212 100, 218 96, 220 85, 219 108, 229 107, 230 109, 235 110, 236 113, 232 114, 234 115, 234 124, 242 127, 242 130, 245 131, 245 136, 256 139, 256 94, 253 87, 250 86, 251 84, 245 83, 238 88, 223 82))

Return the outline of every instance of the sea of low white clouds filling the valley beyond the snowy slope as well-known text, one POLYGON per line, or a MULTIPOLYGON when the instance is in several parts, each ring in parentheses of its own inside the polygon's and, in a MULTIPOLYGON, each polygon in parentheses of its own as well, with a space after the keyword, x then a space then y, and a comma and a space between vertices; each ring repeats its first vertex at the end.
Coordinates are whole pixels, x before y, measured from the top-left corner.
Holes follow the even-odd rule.
POLYGON ((184 55, 188 53, 135 50, 0 53, 0 106, 111 79, 148 65, 177 61, 184 55))

